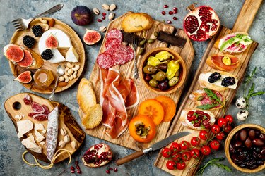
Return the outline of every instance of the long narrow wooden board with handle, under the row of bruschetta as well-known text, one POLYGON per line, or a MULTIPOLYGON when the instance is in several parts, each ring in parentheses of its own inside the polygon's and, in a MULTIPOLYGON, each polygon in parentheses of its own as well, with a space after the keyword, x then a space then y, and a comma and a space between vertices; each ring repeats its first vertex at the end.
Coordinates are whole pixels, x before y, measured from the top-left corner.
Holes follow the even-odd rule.
MULTIPOLYGON (((251 0, 246 0, 245 4, 242 6, 240 14, 237 17, 237 20, 235 22, 233 29, 230 30, 227 27, 221 26, 218 34, 216 34, 213 37, 213 39, 211 39, 211 42, 209 42, 203 58, 201 58, 199 68, 196 71, 192 85, 189 87, 189 92, 185 96, 185 99, 182 102, 182 105, 179 107, 179 109, 177 111, 177 117, 172 122, 170 130, 167 133, 167 137, 172 135, 172 134, 176 134, 177 132, 189 131, 192 134, 190 134, 187 137, 183 137, 181 139, 178 139, 176 141, 176 142, 181 142, 182 140, 187 140, 189 142, 192 137, 199 136, 199 131, 191 130, 191 129, 184 127, 182 125, 182 122, 179 120, 180 113, 181 113, 182 109, 185 109, 185 108, 196 108, 196 104, 193 103, 189 99, 189 94, 198 90, 198 89, 201 89, 201 87, 199 86, 199 83, 198 83, 198 77, 202 72, 205 72, 205 71, 208 72, 208 71, 214 70, 213 68, 209 67, 206 64, 206 59, 208 58, 208 56, 211 56, 212 54, 221 54, 219 49, 213 48, 213 44, 216 42, 216 40, 220 39, 221 37, 224 37, 226 34, 230 34, 232 32, 247 32, 249 30, 249 27, 252 24, 252 21, 254 20, 254 16, 256 15, 256 13, 258 11, 259 6, 261 5, 261 2, 262 2, 262 0, 255 1, 255 2, 251 1, 251 0)), ((250 58, 251 58, 252 54, 254 53, 255 49, 257 48, 257 46, 258 46, 258 43, 253 42, 250 46, 248 46, 246 51, 236 55, 240 59, 240 66, 236 70, 230 71, 229 73, 232 73, 232 75, 235 75, 235 77, 237 77, 237 79, 239 80, 239 82, 237 84, 237 89, 240 86, 240 83, 242 82, 242 80, 244 78, 244 75, 245 75, 245 72, 247 69, 247 65, 249 64, 250 58)), ((234 98, 235 93, 237 92, 237 89, 227 89, 224 92, 222 92, 222 94, 225 96, 225 99, 227 100, 225 103, 226 110, 228 110, 228 107, 230 106, 230 103, 232 102, 232 99, 234 98)), ((224 113, 221 109, 215 110, 212 112, 214 115, 216 115, 217 118, 223 117, 223 115, 224 115, 224 113)), ((158 158, 155 161, 155 166, 157 166, 158 168, 160 168, 162 170, 165 170, 166 172, 169 172, 172 175, 178 175, 178 176, 180 176, 180 175, 195 175, 196 170, 199 167, 199 164, 201 163, 201 160, 203 158, 203 156, 201 156, 201 158, 199 160, 195 160, 194 158, 192 158, 190 161, 186 162, 186 168, 184 170, 168 170, 166 167, 166 163, 168 160, 165 159, 161 155, 161 151, 158 154, 158 158), (196 165, 196 167, 194 167, 194 165, 196 165)))

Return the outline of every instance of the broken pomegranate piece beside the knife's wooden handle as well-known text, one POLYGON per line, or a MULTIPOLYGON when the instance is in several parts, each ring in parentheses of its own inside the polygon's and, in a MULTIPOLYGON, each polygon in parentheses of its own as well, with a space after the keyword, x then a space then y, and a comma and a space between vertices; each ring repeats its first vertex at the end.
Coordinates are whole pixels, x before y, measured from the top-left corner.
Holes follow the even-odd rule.
POLYGON ((91 146, 82 158, 83 164, 91 168, 98 168, 109 163, 111 160, 112 151, 110 146, 104 143, 91 146))

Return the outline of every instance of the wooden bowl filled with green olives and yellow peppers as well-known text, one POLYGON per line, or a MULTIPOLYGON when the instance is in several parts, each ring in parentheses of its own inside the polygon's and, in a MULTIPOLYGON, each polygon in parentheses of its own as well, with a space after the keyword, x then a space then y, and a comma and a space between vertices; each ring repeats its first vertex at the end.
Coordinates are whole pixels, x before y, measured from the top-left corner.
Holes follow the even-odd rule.
POLYGON ((176 51, 159 47, 151 49, 142 58, 140 77, 143 84, 156 94, 171 94, 186 79, 186 65, 176 51))

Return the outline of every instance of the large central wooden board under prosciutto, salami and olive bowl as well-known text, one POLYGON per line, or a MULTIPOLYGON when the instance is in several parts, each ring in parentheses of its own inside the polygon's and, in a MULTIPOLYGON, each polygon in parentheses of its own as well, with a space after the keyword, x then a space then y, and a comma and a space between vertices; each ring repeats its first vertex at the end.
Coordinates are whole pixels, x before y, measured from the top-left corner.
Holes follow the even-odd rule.
MULTIPOLYGON (((128 12, 128 13, 131 13, 131 12, 128 12)), ((120 24, 122 23, 122 20, 124 19, 125 15, 127 15, 128 13, 125 13, 124 15, 120 16, 119 18, 113 20, 108 25, 107 32, 109 30, 111 30, 112 28, 117 28, 119 30, 122 30, 120 24)), ((163 23, 160 23, 159 21, 155 20, 153 27, 150 30, 146 31, 145 37, 147 39, 155 38, 153 36, 153 33, 154 33, 154 31, 158 31, 158 30, 163 30, 167 33, 175 34, 179 37, 186 38, 187 42, 186 42, 184 48, 181 49, 181 48, 178 48, 177 46, 170 46, 166 43, 159 42, 158 40, 155 40, 155 42, 153 44, 147 44, 146 51, 148 51, 150 49, 157 48, 157 47, 163 47, 163 46, 169 47, 170 49, 174 49, 184 59, 184 62, 187 65, 187 73, 189 73, 189 68, 191 67, 192 61, 194 58, 194 49, 192 47, 192 42, 190 42, 187 35, 184 33, 183 30, 176 30, 175 27, 173 27, 172 25, 163 24, 163 23), (160 25, 158 25, 158 24, 160 24, 160 25), (158 28, 156 28, 155 26, 157 26, 158 28)), ((106 32, 106 34, 107 34, 107 32, 106 32)), ((138 32, 136 34, 143 37, 143 32, 138 32)), ((102 51, 104 51, 104 44, 105 44, 105 39, 102 42, 102 46, 100 48, 99 54, 102 53, 102 51)), ((140 48, 137 49, 137 52, 139 51, 139 49, 140 48)), ((137 58, 138 68, 139 68, 139 65, 141 63, 142 57, 143 56, 139 56, 137 58)), ((96 94, 97 100, 99 102, 99 100, 100 100, 100 82, 97 81, 97 78, 98 78, 98 68, 97 67, 98 67, 97 65, 94 66, 93 71, 90 75, 90 81, 93 83, 95 94, 96 94)), ((129 62, 129 63, 126 63, 125 65, 116 65, 116 66, 114 66, 114 68, 120 71, 122 79, 124 79, 125 77, 133 77, 134 60, 129 62)), ((151 92, 148 88, 146 88, 144 86, 140 77, 139 77, 139 79, 136 80, 135 83, 136 83, 136 87, 137 87, 138 92, 139 92, 139 103, 141 103, 142 101, 144 101, 146 99, 151 99, 151 98, 158 96, 158 94, 151 92)), ((179 97, 182 94, 182 90, 183 90, 183 86, 179 90, 177 90, 177 92, 172 93, 172 94, 167 94, 167 96, 170 96, 170 98, 172 98, 173 101, 175 101, 175 103, 177 104, 179 101, 179 97)), ((136 106, 136 107, 131 108, 127 111, 129 114, 129 119, 133 118, 134 116, 136 116, 138 114, 138 108, 139 108, 139 106, 136 106)), ((153 139, 153 141, 148 143, 148 144, 140 144, 139 142, 136 142, 130 136, 129 130, 126 130, 117 139, 111 139, 110 137, 108 137, 105 134, 106 129, 102 125, 95 127, 93 130, 86 130, 86 132, 87 132, 87 134, 89 134, 91 136, 98 137, 100 139, 105 139, 105 140, 112 142, 114 144, 118 144, 120 146, 125 146, 127 148, 139 151, 139 150, 144 149, 148 146, 151 146, 152 144, 160 141, 161 139, 164 139, 166 134, 167 134, 167 130, 169 129, 169 127, 170 127, 170 122, 162 122, 160 125, 158 125, 157 134, 155 136, 155 139, 153 139)))

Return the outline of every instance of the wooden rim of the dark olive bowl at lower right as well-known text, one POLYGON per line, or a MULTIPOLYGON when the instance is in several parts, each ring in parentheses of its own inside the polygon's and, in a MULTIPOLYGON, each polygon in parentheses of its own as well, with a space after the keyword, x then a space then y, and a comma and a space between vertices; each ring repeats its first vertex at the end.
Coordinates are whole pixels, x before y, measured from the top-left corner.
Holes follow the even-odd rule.
POLYGON ((242 130, 243 128, 253 128, 253 129, 257 129, 260 130, 262 133, 265 134, 265 128, 261 127, 259 125, 254 125, 254 124, 243 124, 243 125, 239 125, 237 127, 235 127, 229 134, 228 137, 225 140, 225 156, 226 158, 228 158, 229 163, 236 168, 237 170, 240 170, 241 172, 246 172, 246 173, 254 173, 254 172, 259 172, 261 170, 264 170, 265 168, 265 163, 264 165, 260 165, 258 168, 256 169, 247 169, 247 168, 241 168, 240 166, 236 165, 231 157, 230 157, 230 153, 229 153, 229 144, 231 142, 232 137, 235 135, 235 133, 237 133, 238 131, 242 130))

